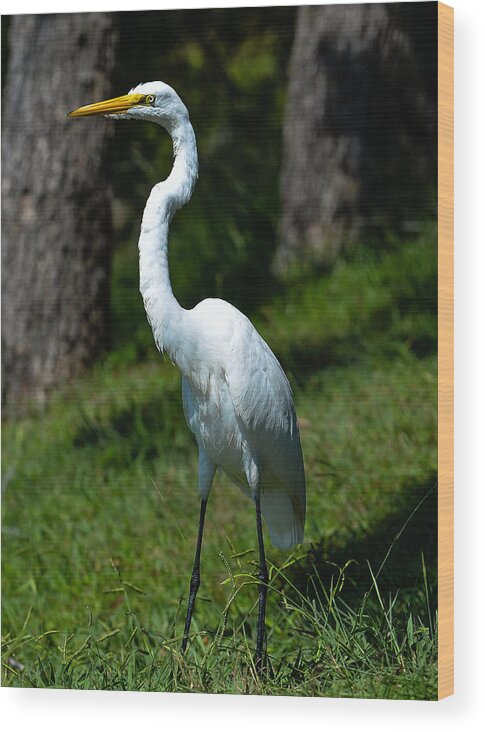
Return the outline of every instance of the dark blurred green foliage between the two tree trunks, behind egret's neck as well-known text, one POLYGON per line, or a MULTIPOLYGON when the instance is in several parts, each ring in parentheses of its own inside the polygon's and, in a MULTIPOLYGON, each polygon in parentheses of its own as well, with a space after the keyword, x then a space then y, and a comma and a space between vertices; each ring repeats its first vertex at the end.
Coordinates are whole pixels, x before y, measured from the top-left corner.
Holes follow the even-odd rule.
MULTIPOLYGON (((197 135, 197 194, 171 231, 173 285, 186 307, 211 294, 254 309, 274 288, 294 16, 294 8, 248 8, 237 11, 237 21, 227 10, 118 17, 123 58, 116 88, 163 79, 180 92, 197 135)), ((171 158, 168 135, 154 125, 116 126, 112 180, 122 214, 115 221, 134 258, 147 190, 168 175, 171 158)), ((136 276, 136 259, 129 271, 136 276)))

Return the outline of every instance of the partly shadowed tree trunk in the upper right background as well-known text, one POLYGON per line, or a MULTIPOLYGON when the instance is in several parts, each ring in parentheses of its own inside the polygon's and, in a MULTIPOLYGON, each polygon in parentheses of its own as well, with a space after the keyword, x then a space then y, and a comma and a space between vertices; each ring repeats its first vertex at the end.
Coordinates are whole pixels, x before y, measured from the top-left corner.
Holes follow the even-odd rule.
POLYGON ((344 246, 434 215, 436 13, 432 2, 299 8, 280 274, 329 268, 344 246))

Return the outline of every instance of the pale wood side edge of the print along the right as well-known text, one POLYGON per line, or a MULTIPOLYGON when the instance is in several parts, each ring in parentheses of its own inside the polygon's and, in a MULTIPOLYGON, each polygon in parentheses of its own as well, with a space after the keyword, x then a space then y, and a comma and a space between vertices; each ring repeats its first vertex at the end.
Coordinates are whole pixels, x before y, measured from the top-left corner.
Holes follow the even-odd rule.
POLYGON ((453 8, 438 3, 438 699, 454 691, 453 8))

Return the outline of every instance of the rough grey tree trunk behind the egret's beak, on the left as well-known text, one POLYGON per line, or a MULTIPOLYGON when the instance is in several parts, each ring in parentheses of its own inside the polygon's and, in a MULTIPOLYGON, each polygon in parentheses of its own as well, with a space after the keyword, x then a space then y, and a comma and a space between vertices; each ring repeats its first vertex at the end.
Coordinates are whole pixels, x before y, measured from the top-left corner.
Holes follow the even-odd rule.
POLYGON ((2 396, 42 402, 106 347, 111 243, 104 119, 66 113, 110 95, 106 13, 12 18, 3 96, 2 396))

